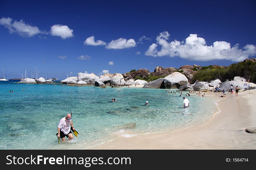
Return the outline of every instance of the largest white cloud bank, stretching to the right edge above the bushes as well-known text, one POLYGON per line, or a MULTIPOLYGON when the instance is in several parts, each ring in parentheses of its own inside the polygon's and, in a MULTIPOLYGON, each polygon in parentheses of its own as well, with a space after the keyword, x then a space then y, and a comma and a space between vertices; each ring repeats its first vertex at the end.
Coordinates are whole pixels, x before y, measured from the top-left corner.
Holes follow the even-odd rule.
POLYGON ((149 46, 145 52, 147 56, 179 56, 188 60, 209 61, 209 60, 231 60, 235 62, 243 61, 249 56, 255 56, 256 46, 247 44, 243 49, 239 49, 239 44, 231 47, 231 44, 225 41, 216 41, 211 46, 206 45, 206 41, 197 34, 190 34, 185 42, 174 40, 167 42, 170 34, 165 31, 157 36, 157 43, 149 46), (161 49, 158 51, 157 46, 161 49))

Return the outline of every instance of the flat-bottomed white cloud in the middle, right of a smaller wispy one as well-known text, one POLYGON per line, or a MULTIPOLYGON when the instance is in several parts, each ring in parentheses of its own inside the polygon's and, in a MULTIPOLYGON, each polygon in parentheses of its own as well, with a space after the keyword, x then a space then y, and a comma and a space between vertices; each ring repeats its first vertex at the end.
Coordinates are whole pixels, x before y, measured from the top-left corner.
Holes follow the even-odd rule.
POLYGON ((125 49, 135 47, 136 42, 134 39, 126 40, 125 38, 119 38, 117 40, 112 40, 107 46, 106 49, 125 49))

